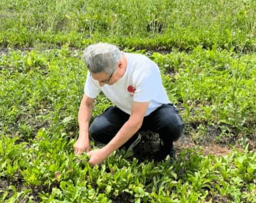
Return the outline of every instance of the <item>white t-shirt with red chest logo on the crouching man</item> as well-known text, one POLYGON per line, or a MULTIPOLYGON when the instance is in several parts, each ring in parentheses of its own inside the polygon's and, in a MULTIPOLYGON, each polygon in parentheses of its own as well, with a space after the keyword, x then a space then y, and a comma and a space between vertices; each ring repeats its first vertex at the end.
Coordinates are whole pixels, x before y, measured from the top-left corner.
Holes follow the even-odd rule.
POLYGON ((126 72, 118 82, 101 87, 97 80, 90 77, 88 71, 84 93, 90 98, 96 98, 102 91, 115 106, 127 114, 131 113, 133 101, 150 102, 145 116, 162 104, 170 103, 157 64, 143 55, 124 54, 127 58, 126 72))

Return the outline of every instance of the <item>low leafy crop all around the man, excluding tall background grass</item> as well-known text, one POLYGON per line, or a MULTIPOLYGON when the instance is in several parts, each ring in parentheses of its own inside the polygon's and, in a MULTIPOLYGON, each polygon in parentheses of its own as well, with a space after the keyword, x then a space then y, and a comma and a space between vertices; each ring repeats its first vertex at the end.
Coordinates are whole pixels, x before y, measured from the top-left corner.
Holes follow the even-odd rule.
MULTIPOLYGON (((197 47, 190 53, 150 57, 159 64, 170 100, 186 107, 180 111, 184 121, 200 123, 198 134, 191 135, 194 139, 207 133, 207 123, 219 125, 223 132, 228 126, 244 135, 253 131, 246 125, 256 118, 250 102, 255 98, 253 54, 238 57, 197 47)), ((0 178, 9 186, 0 191, 3 201, 254 202, 256 159, 247 148, 219 158, 183 150, 172 166, 169 160, 127 161, 116 151, 91 168, 86 154, 73 153, 86 77, 81 52, 66 46, 10 51, 0 62, 0 178), (22 187, 16 187, 20 180, 22 187)), ((93 114, 109 105, 99 96, 93 114)))

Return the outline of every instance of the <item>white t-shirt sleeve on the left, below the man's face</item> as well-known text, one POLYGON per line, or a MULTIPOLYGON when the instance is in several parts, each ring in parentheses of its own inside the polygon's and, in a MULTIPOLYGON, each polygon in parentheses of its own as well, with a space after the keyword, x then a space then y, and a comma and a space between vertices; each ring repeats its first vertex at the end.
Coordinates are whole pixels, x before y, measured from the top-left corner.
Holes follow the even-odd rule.
POLYGON ((90 98, 95 99, 98 96, 99 92, 101 92, 101 89, 99 88, 97 81, 94 81, 91 78, 90 73, 88 71, 86 77, 86 84, 84 85, 84 94, 90 98))

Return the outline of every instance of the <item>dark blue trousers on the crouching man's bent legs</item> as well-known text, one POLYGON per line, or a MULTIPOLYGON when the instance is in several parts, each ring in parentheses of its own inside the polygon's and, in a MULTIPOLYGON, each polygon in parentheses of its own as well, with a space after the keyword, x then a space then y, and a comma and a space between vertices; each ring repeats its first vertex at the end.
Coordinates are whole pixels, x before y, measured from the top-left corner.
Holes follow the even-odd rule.
MULTIPOLYGON (((90 136, 98 142, 107 144, 129 119, 118 107, 107 108, 102 115, 95 117, 90 126, 90 136)), ((173 148, 173 142, 182 135, 184 124, 173 104, 163 104, 143 119, 143 124, 138 132, 152 131, 158 133, 162 140, 159 154, 163 159, 173 148)))

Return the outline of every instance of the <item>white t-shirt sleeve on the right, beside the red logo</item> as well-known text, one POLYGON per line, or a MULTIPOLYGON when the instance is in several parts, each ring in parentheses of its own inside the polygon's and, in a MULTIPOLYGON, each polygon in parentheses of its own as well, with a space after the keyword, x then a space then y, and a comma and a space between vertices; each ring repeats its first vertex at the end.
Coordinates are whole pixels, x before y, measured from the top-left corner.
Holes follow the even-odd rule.
POLYGON ((134 102, 150 102, 157 97, 162 88, 160 71, 157 67, 144 68, 142 73, 136 73, 134 102))

